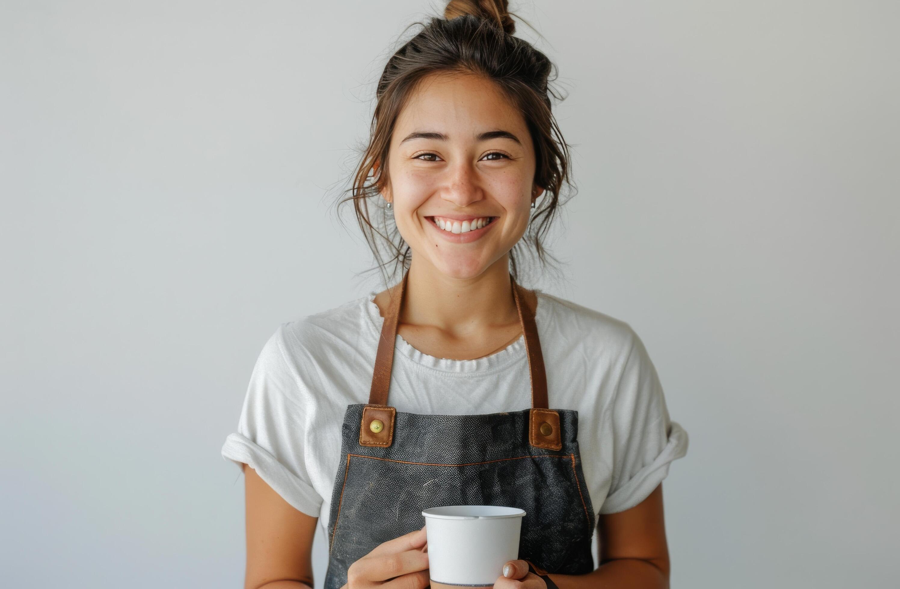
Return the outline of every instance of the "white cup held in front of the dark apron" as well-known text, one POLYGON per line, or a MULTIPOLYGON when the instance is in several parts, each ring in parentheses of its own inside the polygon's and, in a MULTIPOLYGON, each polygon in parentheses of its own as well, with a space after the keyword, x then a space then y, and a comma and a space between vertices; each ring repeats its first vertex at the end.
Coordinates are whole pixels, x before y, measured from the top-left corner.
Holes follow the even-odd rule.
POLYGON ((422 512, 431 586, 491 587, 518 558, 525 511, 501 505, 444 505, 422 512))

